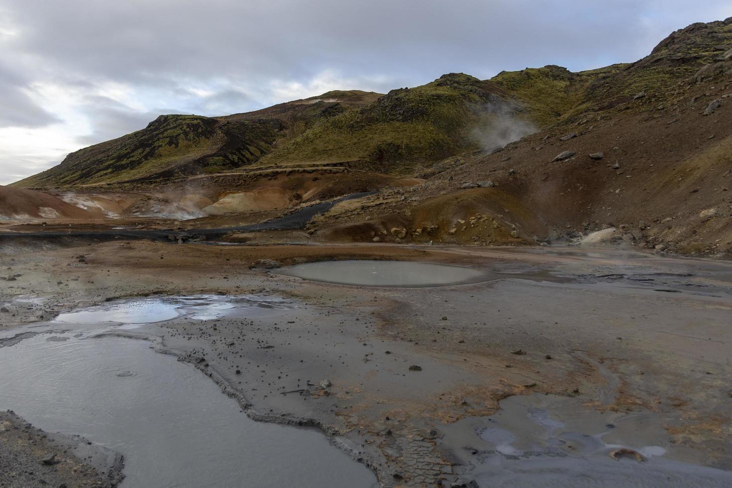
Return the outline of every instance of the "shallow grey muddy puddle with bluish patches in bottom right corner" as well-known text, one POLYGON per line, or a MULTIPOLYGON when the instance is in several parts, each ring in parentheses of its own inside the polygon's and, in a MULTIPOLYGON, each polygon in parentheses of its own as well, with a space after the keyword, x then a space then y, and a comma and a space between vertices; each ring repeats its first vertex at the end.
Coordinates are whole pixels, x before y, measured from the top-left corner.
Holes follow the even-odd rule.
POLYGON ((731 472, 670 442, 665 426, 675 418, 599 412, 554 395, 500 403, 493 416, 443 426, 444 445, 466 446, 453 452, 479 487, 732 486, 731 472))

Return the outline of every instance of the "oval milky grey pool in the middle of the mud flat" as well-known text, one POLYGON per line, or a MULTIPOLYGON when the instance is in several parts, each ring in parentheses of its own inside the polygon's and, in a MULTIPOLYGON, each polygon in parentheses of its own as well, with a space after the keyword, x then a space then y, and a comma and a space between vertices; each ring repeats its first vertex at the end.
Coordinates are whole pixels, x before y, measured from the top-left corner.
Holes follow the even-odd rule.
POLYGON ((500 277, 490 271, 464 266, 378 260, 305 263, 277 269, 276 272, 291 277, 339 285, 383 287, 464 285, 500 277))

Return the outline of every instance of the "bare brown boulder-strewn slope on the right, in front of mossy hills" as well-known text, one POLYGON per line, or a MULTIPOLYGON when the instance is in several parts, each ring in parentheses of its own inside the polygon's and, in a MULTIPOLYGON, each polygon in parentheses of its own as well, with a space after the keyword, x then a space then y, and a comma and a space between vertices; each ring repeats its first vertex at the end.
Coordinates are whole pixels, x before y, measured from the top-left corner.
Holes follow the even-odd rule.
POLYGON ((593 239, 732 255, 732 18, 673 32, 635 63, 492 81, 545 127, 332 212, 326 239, 392 241, 403 228, 400 241, 537 244, 602 230, 593 239))

